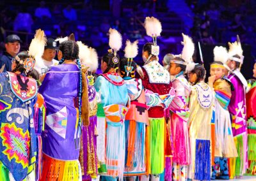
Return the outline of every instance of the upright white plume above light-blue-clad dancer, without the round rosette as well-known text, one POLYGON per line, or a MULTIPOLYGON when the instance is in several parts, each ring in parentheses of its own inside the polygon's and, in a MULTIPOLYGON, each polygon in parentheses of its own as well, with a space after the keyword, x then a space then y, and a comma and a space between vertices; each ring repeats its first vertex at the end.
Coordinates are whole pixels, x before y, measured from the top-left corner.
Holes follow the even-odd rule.
POLYGON ((109 47, 116 51, 122 47, 122 35, 116 29, 109 29, 109 47))

